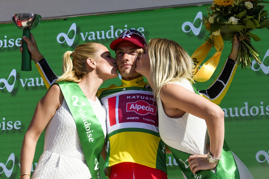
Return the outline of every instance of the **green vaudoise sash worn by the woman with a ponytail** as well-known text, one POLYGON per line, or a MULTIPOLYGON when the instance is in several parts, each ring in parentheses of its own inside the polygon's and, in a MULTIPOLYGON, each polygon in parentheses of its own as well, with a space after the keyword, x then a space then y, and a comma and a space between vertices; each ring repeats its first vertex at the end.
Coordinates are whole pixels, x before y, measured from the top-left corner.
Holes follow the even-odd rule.
MULTIPOLYGON (((88 98, 74 82, 57 82, 75 120, 79 140, 93 179, 100 178, 99 157, 104 146, 104 132, 88 98)), ((78 171, 79 172, 79 171, 78 171)))

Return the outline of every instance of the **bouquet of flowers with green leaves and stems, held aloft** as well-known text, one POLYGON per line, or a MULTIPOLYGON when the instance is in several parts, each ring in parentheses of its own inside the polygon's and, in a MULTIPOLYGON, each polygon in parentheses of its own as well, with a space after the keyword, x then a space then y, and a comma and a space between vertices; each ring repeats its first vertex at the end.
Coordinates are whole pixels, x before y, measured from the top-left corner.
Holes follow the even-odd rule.
MULTIPOLYGON (((261 64, 258 51, 247 40, 248 37, 260 41, 260 37, 252 34, 254 29, 269 30, 268 12, 264 10, 267 1, 259 0, 214 0, 207 8, 208 17, 203 17, 203 23, 209 34, 206 41, 214 44, 214 36, 221 35, 223 40, 231 40, 237 34, 240 41, 237 56, 238 65, 242 69, 251 66, 251 59, 261 64)), ((268 40, 268 39, 266 39, 268 40)))

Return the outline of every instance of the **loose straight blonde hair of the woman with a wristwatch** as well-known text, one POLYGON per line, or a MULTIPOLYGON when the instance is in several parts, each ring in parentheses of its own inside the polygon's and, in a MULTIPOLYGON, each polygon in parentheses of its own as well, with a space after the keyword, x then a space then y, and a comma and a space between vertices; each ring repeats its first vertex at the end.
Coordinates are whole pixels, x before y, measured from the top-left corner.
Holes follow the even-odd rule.
POLYGON ((150 60, 150 86, 158 100, 161 87, 182 79, 192 80, 193 61, 188 53, 175 41, 154 38, 147 46, 150 60))

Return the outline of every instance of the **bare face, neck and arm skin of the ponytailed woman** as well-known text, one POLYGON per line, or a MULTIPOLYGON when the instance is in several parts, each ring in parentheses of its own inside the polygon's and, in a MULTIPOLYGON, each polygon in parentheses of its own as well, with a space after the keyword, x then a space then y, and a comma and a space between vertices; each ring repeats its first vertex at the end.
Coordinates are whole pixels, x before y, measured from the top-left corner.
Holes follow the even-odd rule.
MULTIPOLYGON (((97 49, 94 58, 89 57, 85 59, 86 73, 82 75, 81 81, 78 82, 78 86, 84 95, 92 101, 96 101, 96 92, 105 80, 118 76, 115 58, 111 57, 105 46, 100 44, 97 49)), ((20 155, 21 173, 31 173, 35 146, 39 136, 51 121, 55 111, 62 105, 63 99, 63 93, 59 85, 55 84, 51 86, 46 95, 39 101, 23 140, 20 155)), ((77 139, 70 138, 70 140, 77 139)), ((102 151, 102 154, 105 154, 105 150, 104 152, 102 151)), ((26 179, 30 177, 23 175, 20 178, 26 179)))

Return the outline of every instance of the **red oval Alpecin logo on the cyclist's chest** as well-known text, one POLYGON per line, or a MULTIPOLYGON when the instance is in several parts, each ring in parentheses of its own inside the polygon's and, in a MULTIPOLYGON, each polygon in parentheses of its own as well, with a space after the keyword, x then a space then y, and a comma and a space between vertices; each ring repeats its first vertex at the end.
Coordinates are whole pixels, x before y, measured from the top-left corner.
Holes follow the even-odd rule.
POLYGON ((137 114, 140 115, 147 115, 148 113, 156 115, 156 106, 150 105, 146 101, 136 101, 136 102, 130 102, 126 104, 126 111, 131 112, 134 111, 137 114))

